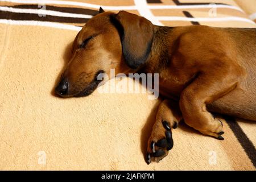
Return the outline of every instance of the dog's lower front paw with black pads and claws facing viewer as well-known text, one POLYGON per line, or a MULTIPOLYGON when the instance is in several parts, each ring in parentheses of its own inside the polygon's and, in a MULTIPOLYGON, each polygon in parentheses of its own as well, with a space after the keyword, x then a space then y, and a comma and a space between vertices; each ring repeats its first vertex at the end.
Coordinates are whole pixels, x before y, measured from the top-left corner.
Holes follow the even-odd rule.
MULTIPOLYGON (((177 122, 172 127, 176 129, 177 122)), ((170 122, 162 121, 162 125, 153 128, 151 137, 148 139, 146 162, 159 162, 168 155, 168 151, 174 146, 170 122)))

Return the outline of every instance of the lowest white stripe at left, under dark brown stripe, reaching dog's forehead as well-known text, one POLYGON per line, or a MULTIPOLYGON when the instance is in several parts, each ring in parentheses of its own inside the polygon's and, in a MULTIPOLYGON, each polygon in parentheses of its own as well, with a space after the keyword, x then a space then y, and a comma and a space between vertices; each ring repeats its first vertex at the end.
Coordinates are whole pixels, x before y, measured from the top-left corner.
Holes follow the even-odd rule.
POLYGON ((30 20, 0 19, 0 23, 13 24, 13 25, 43 26, 43 27, 60 28, 65 30, 75 30, 75 31, 80 31, 82 29, 82 27, 76 27, 69 24, 40 22, 40 21, 33 21, 33 20, 30 21, 30 20))

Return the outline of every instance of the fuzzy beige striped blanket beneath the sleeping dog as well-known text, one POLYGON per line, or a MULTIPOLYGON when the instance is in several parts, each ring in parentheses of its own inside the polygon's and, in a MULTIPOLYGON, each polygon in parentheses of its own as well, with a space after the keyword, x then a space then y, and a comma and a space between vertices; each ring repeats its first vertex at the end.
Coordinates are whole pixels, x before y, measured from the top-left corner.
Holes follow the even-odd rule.
MULTIPOLYGON (((76 2, 89 5, 63 5, 56 1, 46 4, 46 10, 53 8, 52 11, 67 13, 69 10, 82 14, 80 12, 86 9, 88 14, 93 14, 98 10, 96 5, 105 10, 113 9, 109 6, 137 5, 135 9, 138 10, 127 11, 147 15, 146 18, 166 26, 196 22, 220 27, 256 27, 235 1, 228 0, 214 1, 232 5, 232 8, 217 9, 217 18, 236 16, 234 20, 213 20, 214 17, 209 17, 210 8, 199 9, 196 5, 184 9, 144 8, 146 11, 143 11, 138 1, 132 0, 115 1, 115 4, 103 0, 76 2), (189 19, 184 11, 194 18, 207 19, 189 19), (169 20, 163 20, 163 16, 169 20), (183 20, 170 20, 173 16, 183 20)), ((141 2, 147 7, 178 7, 185 5, 182 3, 191 3, 141 2)), ((212 0, 193 2, 210 3, 212 0)), ((32 1, 27 7, 25 5, 16 1, 0 2, 0 7, 13 7, 18 11, 38 6, 32 1)), ((101 94, 97 90, 88 97, 56 97, 53 88, 69 60, 71 44, 86 20, 60 19, 63 14, 31 19, 31 10, 24 10, 28 13, 11 11, 0 9, 0 169, 255 170, 256 125, 242 119, 226 119, 227 122, 222 119, 223 141, 204 136, 180 123, 173 130, 174 148, 168 156, 159 163, 147 165, 144 160, 147 139, 161 98, 148 100, 148 94, 143 93, 101 94), (56 23, 64 27, 58 28, 56 23)), ((110 82, 107 84, 113 86, 110 82)))

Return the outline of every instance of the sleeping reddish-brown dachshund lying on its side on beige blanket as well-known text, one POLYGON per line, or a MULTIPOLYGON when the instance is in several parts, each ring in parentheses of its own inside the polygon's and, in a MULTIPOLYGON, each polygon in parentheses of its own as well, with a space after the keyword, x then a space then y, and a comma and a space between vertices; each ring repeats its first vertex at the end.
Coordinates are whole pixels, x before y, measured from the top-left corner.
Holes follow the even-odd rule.
POLYGON ((224 139, 209 111, 256 121, 256 29, 208 26, 162 27, 120 11, 90 19, 73 42, 73 55, 55 92, 88 96, 99 73, 159 73, 159 106, 148 139, 147 162, 173 146, 179 121, 224 139))

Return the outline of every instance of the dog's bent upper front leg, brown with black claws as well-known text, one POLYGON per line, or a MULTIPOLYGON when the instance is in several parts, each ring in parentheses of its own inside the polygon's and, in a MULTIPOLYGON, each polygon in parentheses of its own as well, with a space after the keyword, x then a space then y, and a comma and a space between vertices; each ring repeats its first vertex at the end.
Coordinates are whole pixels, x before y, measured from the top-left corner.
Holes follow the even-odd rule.
POLYGON ((238 82, 232 69, 219 72, 214 69, 201 73, 180 95, 180 110, 185 123, 205 135, 223 140, 222 123, 210 114, 206 105, 235 89, 238 82), (220 73, 220 74, 219 74, 220 73))

